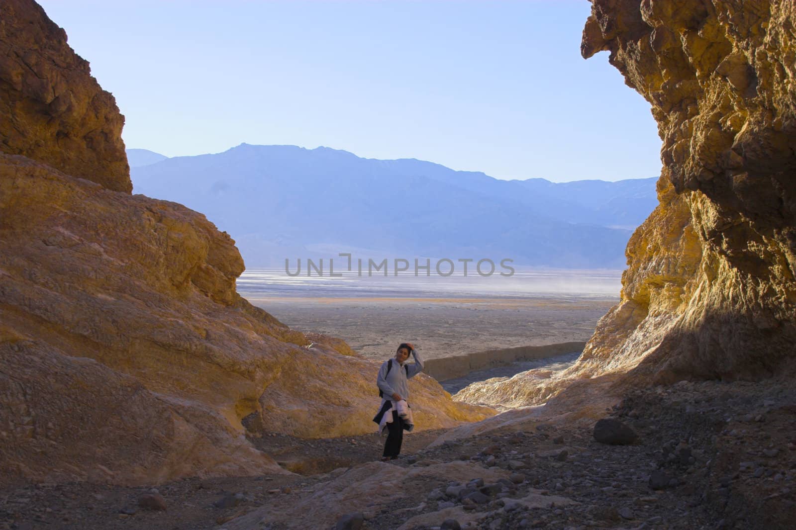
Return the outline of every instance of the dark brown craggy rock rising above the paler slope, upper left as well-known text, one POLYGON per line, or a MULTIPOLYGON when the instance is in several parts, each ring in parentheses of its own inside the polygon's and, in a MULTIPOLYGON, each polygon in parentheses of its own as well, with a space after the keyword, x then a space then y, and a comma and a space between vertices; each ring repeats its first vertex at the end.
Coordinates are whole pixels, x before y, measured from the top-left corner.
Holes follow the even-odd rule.
POLYGON ((32 0, 0 2, 0 151, 131 192, 124 116, 32 0))

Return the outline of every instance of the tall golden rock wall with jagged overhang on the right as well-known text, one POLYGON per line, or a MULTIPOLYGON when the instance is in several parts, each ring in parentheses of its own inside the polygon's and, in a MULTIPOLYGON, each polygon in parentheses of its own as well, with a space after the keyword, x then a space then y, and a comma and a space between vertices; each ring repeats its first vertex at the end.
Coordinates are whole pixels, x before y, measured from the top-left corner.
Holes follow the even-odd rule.
POLYGON ((660 205, 630 238, 621 302, 572 368, 477 384, 456 399, 522 406, 568 388, 549 411, 598 414, 628 384, 794 376, 794 10, 593 2, 583 57, 608 50, 650 102, 663 140, 660 205))

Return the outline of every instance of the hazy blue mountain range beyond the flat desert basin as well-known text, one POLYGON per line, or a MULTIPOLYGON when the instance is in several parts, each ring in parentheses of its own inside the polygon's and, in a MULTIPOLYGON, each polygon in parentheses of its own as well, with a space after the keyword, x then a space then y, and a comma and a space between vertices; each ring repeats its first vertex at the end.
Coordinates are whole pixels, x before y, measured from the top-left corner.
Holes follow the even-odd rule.
POLYGON ((205 213, 248 267, 353 251, 622 268, 630 233, 657 205, 657 178, 504 181, 413 158, 245 143, 193 157, 128 154, 134 193, 205 213))

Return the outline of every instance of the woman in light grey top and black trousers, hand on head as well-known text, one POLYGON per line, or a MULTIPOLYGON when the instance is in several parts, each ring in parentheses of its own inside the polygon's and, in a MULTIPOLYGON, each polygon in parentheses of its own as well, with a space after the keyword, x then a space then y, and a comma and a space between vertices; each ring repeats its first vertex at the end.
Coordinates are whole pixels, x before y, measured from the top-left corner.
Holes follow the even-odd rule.
POLYGON ((412 431, 412 411, 409 409, 409 386, 407 380, 423 370, 423 360, 411 342, 402 342, 396 350, 396 357, 384 361, 379 369, 376 384, 381 396, 381 407, 373 421, 379 424, 379 432, 388 432, 384 442, 382 462, 395 460, 400 454, 404 431, 412 431), (407 364, 409 354, 415 357, 415 364, 407 364))

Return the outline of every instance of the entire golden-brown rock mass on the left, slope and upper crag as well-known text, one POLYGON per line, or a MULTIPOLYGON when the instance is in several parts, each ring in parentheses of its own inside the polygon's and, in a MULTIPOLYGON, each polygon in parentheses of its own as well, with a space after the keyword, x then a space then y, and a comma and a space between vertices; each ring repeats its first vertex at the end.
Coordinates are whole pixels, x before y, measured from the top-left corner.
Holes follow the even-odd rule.
MULTIPOLYGON (((111 95, 39 6, 0 10, 0 482, 275 472, 245 435, 374 431, 378 366, 241 298, 205 216, 127 193, 111 95), (74 102, 60 118, 53 93, 74 102)), ((428 376, 412 392, 419 428, 494 414, 428 376)))

